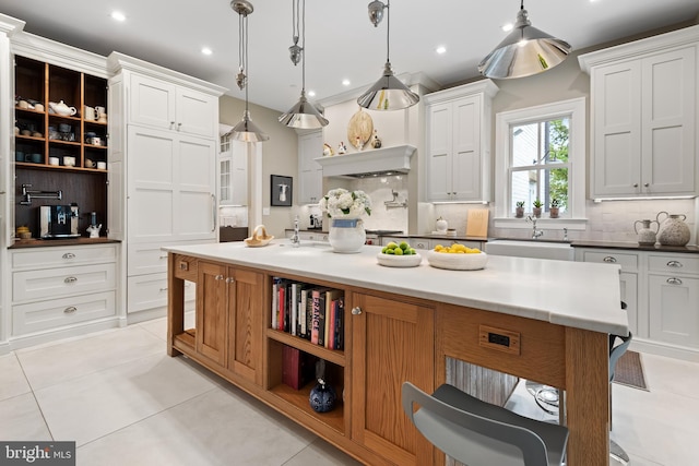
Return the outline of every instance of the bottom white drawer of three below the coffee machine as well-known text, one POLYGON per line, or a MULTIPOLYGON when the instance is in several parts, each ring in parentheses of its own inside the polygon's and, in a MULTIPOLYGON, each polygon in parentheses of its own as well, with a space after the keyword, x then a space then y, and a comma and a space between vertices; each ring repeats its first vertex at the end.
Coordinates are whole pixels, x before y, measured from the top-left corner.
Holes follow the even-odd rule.
POLYGON ((12 335, 43 332, 116 315, 115 291, 94 292, 12 308, 12 335))

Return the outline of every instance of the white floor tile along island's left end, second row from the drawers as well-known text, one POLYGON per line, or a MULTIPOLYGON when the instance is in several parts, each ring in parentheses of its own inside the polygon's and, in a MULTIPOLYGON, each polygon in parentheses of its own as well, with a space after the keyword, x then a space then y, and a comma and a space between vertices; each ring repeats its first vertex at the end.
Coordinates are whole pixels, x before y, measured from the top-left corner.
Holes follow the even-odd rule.
POLYGON ((179 358, 156 355, 35 391, 56 440, 78 445, 211 391, 179 358))

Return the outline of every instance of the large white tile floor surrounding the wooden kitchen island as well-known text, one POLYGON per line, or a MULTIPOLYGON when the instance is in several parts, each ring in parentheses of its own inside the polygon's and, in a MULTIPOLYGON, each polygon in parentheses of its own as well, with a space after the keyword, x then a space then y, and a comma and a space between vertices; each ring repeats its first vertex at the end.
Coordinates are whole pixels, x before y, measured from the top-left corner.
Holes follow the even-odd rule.
MULTIPOLYGON (((75 440, 83 466, 358 465, 168 357, 165 328, 159 319, 0 356, 0 439, 75 440)), ((613 438, 633 466, 697 464, 699 363, 642 360, 650 392, 613 384, 613 438)))

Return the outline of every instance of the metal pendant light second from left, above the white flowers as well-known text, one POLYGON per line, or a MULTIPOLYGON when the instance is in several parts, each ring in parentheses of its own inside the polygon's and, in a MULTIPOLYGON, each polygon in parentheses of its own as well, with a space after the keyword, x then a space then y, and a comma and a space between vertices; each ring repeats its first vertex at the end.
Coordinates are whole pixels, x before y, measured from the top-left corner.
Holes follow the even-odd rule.
POLYGON ((298 101, 286 112, 280 116, 280 123, 289 128, 317 129, 322 128, 329 121, 320 115, 313 104, 306 99, 306 0, 292 0, 292 16, 294 27, 294 45, 288 48, 292 63, 301 63, 301 96, 298 101), (300 12, 299 12, 300 1, 300 12), (298 19, 301 17, 301 46, 298 46, 298 19))

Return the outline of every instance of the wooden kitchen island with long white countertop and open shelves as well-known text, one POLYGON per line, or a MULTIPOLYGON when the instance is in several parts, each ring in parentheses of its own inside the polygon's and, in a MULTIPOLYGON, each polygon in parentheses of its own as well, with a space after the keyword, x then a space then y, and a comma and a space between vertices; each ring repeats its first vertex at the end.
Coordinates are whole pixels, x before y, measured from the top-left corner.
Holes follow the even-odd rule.
POLYGON ((608 462, 607 334, 626 335, 619 270, 607 264, 490 256, 481 271, 390 268, 379 247, 335 254, 327 243, 165 248, 168 354, 186 354, 367 464, 443 464, 410 425, 400 386, 431 392, 448 358, 566 390, 568 464, 608 462), (273 283, 344 296, 344 347, 272 328, 273 283), (183 325, 185 282, 197 283, 194 328, 183 325), (308 406, 313 382, 283 383, 288 349, 322 358, 339 395, 308 406))

